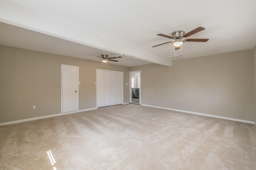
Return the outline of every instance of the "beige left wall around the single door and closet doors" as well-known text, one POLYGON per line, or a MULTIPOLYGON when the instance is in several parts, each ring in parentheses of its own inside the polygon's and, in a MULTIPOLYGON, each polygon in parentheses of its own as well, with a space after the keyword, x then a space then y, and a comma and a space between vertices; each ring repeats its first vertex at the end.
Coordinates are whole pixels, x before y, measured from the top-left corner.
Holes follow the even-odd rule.
MULTIPOLYGON (((96 69, 106 66, 0 45, 0 123, 60 113, 61 64, 79 66, 79 110, 96 107, 96 69)), ((124 72, 124 103, 129 102, 129 68, 108 64, 108 70, 124 72)))

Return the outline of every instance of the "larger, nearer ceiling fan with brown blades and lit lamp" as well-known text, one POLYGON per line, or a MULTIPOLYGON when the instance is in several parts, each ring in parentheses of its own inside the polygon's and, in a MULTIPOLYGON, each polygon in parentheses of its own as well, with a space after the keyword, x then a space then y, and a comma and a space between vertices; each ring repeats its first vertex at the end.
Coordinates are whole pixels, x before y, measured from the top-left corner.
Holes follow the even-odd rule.
MULTIPOLYGON (((202 39, 202 38, 187 38, 189 37, 190 35, 193 35, 195 33, 198 33, 200 31, 203 31, 205 28, 204 27, 197 27, 196 29, 193 29, 192 31, 188 32, 185 34, 185 31, 174 31, 172 33, 172 36, 169 36, 169 35, 164 35, 164 34, 157 34, 159 36, 162 36, 162 37, 166 37, 166 38, 170 38, 170 39, 174 39, 174 41, 169 41, 167 43, 172 43, 172 45, 174 45, 175 47, 175 50, 178 50, 180 49, 180 46, 183 45, 183 43, 185 43, 186 41, 190 41, 190 42, 206 42, 208 41, 209 39, 202 39)), ((162 43, 162 44, 159 44, 159 45, 164 45, 164 44, 167 44, 167 43, 162 43)), ((159 45, 155 45, 153 47, 157 47, 159 45)))

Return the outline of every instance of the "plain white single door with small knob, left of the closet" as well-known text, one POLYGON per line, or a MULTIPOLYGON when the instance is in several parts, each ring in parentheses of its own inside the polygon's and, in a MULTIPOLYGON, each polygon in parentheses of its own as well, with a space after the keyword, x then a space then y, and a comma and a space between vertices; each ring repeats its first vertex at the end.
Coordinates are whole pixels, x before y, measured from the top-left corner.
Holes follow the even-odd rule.
POLYGON ((62 65, 62 113, 78 110, 78 66, 62 65))

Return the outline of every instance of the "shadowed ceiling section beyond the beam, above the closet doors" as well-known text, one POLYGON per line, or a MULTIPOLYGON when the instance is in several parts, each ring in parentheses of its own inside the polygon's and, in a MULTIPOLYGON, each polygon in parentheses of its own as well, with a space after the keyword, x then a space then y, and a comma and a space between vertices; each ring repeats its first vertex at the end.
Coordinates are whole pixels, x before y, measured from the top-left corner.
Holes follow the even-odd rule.
POLYGON ((97 49, 80 43, 74 43, 3 22, 0 22, 0 44, 98 62, 101 62, 101 59, 95 56, 107 54, 109 57, 122 57, 114 59, 118 60, 118 62, 109 61, 110 64, 129 67, 150 64, 150 62, 147 61, 97 49))

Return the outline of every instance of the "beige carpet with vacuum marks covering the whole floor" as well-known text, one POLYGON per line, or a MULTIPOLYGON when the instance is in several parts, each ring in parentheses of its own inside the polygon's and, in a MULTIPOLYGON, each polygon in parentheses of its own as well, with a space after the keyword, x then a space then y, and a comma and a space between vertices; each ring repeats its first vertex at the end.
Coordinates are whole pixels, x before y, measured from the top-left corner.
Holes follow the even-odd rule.
POLYGON ((256 127, 133 104, 105 107, 1 126, 0 169, 253 170, 256 127))

